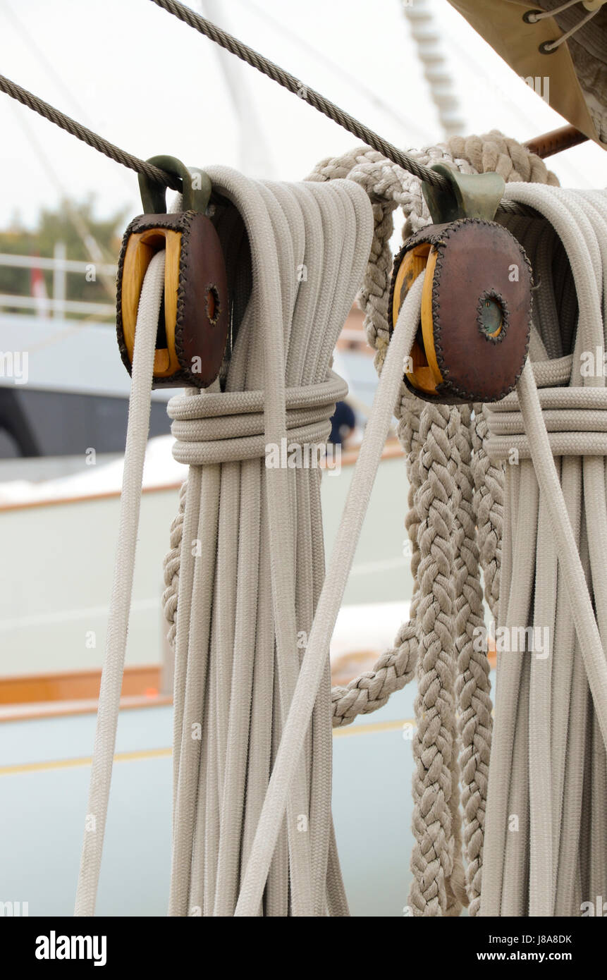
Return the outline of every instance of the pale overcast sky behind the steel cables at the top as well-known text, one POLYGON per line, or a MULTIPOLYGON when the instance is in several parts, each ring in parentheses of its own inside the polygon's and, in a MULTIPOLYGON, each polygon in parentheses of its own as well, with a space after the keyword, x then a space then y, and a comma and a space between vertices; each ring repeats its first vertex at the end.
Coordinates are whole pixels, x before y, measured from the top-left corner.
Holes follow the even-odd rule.
MULTIPOLYGON (((525 140, 563 124, 446 0, 431 6, 465 133, 497 127, 525 140)), ((213 0, 207 10, 397 145, 441 138, 401 0, 213 0)), ((357 142, 231 59, 243 129, 219 49, 150 0, 0 0, 0 51, 2 73, 142 158, 170 154, 189 166, 223 163, 295 180, 357 142)), ((3 94, 0 127, 0 227, 16 214, 30 224, 62 188, 76 199, 94 193, 100 217, 124 205, 140 212, 133 173, 3 94)), ((605 185, 604 151, 593 144, 549 166, 564 185, 605 185)))

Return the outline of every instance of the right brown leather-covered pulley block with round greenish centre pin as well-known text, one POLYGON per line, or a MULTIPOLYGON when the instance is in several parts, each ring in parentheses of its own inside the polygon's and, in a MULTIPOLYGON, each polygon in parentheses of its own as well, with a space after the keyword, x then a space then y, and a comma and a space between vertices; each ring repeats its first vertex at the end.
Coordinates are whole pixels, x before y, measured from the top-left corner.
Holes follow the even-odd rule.
MULTIPOLYGON (((485 176, 496 174, 473 179, 485 176)), ((405 372, 407 387, 443 404, 499 401, 515 387, 529 348, 531 266, 525 250, 505 227, 481 217, 427 225, 396 256, 388 307, 392 329, 420 274, 421 323, 405 372)))

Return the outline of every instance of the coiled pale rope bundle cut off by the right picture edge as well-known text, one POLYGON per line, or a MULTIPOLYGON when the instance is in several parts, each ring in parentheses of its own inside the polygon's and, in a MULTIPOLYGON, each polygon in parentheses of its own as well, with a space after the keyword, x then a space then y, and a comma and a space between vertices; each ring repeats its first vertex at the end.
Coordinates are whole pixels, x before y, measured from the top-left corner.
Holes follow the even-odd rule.
MULTIPOLYGON (((582 374, 585 354, 605 348, 607 195, 522 184, 507 193, 556 230, 579 318, 566 377, 542 378, 549 363, 537 366, 537 394, 530 364, 518 394, 487 413, 487 453, 520 459, 506 466, 498 625, 545 630, 549 650, 498 655, 481 914, 580 915, 607 884, 607 402, 602 363, 582 374)), ((569 341, 553 274, 545 268, 540 327, 556 365, 569 341)))

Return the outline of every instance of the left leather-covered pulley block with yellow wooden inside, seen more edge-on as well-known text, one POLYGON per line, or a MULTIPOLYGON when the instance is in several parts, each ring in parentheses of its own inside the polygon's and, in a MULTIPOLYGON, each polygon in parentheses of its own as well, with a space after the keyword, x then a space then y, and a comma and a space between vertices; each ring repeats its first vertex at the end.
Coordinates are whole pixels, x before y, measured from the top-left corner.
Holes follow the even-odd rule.
POLYGON ((217 378, 228 339, 228 281, 215 226, 205 211, 211 193, 206 174, 192 175, 173 157, 149 163, 182 180, 182 212, 166 213, 165 190, 140 177, 147 214, 133 219, 123 238, 117 288, 117 335, 130 373, 135 325, 145 272, 164 249, 165 290, 160 312, 153 388, 207 388, 217 378))

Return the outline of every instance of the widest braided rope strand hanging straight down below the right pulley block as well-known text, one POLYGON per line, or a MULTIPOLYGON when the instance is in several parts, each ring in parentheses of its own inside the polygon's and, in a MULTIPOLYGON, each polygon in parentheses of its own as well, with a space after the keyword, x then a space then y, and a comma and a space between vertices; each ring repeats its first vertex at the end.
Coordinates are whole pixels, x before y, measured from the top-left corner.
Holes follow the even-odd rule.
POLYGON ((453 498, 456 460, 449 431, 451 410, 429 404, 421 417, 424 449, 416 493, 420 596, 417 728, 413 739, 414 879, 409 905, 417 915, 458 914, 450 879, 455 859, 453 766, 457 758, 452 609, 453 498))

